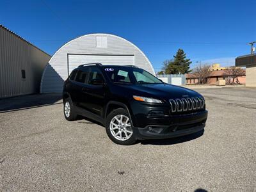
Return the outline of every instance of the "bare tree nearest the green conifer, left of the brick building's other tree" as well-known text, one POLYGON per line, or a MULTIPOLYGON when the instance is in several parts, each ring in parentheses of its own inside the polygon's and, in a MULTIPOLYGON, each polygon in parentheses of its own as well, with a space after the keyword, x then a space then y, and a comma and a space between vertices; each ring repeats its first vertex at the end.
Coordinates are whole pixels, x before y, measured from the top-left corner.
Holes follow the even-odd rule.
POLYGON ((207 78, 210 76, 211 71, 209 70, 211 65, 200 65, 193 69, 193 76, 198 79, 199 84, 207 83, 207 78))

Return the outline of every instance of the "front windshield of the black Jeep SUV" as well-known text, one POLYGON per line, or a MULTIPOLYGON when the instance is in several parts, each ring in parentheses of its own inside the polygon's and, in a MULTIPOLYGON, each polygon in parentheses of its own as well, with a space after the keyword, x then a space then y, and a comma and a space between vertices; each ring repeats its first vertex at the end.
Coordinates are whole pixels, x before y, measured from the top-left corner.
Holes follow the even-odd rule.
POLYGON ((149 72, 135 67, 106 66, 104 70, 113 83, 149 84, 163 83, 149 72))

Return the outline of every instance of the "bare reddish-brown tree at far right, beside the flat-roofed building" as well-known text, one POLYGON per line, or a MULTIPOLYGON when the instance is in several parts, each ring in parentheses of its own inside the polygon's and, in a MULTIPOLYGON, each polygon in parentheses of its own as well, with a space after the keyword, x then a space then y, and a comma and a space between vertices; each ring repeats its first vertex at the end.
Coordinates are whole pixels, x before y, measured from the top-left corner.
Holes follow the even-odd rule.
POLYGON ((236 83, 240 84, 238 77, 245 76, 245 71, 243 68, 232 66, 232 67, 228 67, 228 69, 225 70, 225 76, 227 76, 228 84, 231 84, 231 81, 232 81, 232 84, 234 84, 235 80, 236 80, 236 83))

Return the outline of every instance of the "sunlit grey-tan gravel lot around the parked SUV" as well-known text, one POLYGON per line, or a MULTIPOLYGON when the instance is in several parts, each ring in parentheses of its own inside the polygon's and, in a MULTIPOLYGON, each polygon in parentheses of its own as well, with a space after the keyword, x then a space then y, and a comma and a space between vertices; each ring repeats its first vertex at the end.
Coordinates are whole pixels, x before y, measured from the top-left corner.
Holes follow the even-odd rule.
POLYGON ((256 89, 198 92, 204 133, 132 146, 67 122, 58 95, 0 100, 0 191, 256 191, 256 89))

